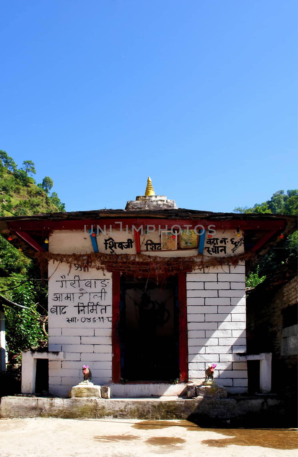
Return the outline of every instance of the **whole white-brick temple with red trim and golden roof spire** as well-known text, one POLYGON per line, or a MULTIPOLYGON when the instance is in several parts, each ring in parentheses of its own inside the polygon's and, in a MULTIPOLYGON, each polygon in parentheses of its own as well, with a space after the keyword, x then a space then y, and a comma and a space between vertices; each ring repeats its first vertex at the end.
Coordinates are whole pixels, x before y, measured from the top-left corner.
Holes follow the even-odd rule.
POLYGON ((177 395, 210 362, 247 392, 245 260, 295 224, 178 209, 151 181, 125 210, 0 218, 48 268, 49 392, 68 396, 87 364, 112 396, 177 395))

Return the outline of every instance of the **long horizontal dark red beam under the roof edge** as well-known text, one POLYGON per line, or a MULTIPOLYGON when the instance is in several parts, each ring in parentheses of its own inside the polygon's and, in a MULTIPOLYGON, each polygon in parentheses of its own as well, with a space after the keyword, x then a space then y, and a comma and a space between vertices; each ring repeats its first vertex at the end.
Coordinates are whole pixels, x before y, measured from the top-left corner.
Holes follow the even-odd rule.
MULTIPOLYGON (((128 228, 131 228, 132 225, 135 225, 136 228, 139 228, 140 225, 143 225, 144 229, 146 225, 155 226, 158 230, 158 226, 162 229, 168 226, 168 229, 172 228, 173 225, 179 225, 181 228, 194 229, 196 225, 202 225, 205 229, 208 228, 208 225, 212 225, 212 228, 215 226, 215 230, 236 230, 237 227, 240 230, 284 230, 286 220, 285 219, 272 219, 272 220, 253 220, 245 221, 238 219, 230 220, 217 220, 211 221, 206 219, 123 219, 123 218, 113 218, 113 219, 88 219, 88 220, 40 220, 40 221, 29 221, 27 220, 18 220, 10 221, 7 223, 7 227, 13 231, 44 231, 44 230, 82 230, 86 228, 87 234, 89 229, 93 225, 93 229, 97 230, 97 226, 101 227, 104 230, 104 225, 106 230, 110 230, 110 226, 113 230, 119 230, 121 228, 120 223, 122 223, 122 230, 125 231, 126 225, 128 228)), ((197 231, 200 230, 200 227, 197 228, 197 231)), ((99 231, 99 233, 101 233, 99 231)))

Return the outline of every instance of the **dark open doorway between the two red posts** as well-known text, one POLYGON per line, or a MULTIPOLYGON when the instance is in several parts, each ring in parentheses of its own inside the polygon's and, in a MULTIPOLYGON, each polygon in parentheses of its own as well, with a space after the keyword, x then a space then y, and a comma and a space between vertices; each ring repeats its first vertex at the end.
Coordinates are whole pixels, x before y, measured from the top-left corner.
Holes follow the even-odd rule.
POLYGON ((178 285, 168 278, 121 278, 121 377, 173 382, 179 378, 178 285))

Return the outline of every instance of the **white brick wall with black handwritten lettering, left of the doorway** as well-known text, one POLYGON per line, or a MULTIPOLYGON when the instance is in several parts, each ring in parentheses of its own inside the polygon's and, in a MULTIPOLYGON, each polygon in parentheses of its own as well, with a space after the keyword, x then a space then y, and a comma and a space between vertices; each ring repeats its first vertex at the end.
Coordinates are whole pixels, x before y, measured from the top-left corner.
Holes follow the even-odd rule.
POLYGON ((101 385, 111 380, 112 279, 107 272, 104 276, 102 271, 71 270, 68 275, 67 265, 62 264, 57 269, 56 267, 57 264, 49 265, 49 350, 64 351, 65 359, 49 361, 49 392, 54 395, 68 396, 72 386, 83 380, 83 365, 89 365, 92 371, 92 382, 101 385), (80 287, 77 287, 77 281, 73 283, 75 275, 80 277, 80 287), (90 278, 96 280, 92 282, 91 287, 87 282, 90 278), (102 287, 100 282, 103 279, 105 279, 105 287, 102 287), (70 280, 72 280, 72 286, 70 280), (105 295, 100 295, 102 289, 106 292, 105 295), (70 298, 67 297, 68 293, 70 298), (78 303, 87 306, 92 302, 99 303, 96 310, 77 308, 78 303), (54 307, 57 305, 65 305, 66 308, 58 308, 56 314, 54 307), (107 305, 106 312, 104 312, 105 305, 107 305), (53 308, 54 313, 51 312, 53 308))

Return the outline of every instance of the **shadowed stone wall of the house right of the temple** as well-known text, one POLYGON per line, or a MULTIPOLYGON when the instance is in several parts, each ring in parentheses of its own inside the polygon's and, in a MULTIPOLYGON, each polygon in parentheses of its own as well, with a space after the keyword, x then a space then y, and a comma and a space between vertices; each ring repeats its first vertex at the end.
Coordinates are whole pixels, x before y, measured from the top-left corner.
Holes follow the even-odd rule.
POLYGON ((272 353, 272 392, 297 397, 297 276, 266 280, 247 298, 247 350, 272 353))

